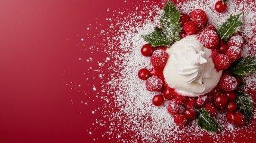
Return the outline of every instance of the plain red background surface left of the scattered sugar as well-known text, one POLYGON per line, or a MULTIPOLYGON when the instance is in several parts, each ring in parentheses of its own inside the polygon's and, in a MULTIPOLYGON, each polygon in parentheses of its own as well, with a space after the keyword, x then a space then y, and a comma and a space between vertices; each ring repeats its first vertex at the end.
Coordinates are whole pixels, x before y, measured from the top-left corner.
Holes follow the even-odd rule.
MULTIPOLYGON (((92 93, 88 83, 100 86, 101 80, 86 81, 98 73, 83 74, 97 66, 86 59, 106 55, 85 51, 80 39, 100 32, 87 30, 95 29, 95 21, 107 27, 108 8, 131 7, 131 2, 113 0, 0 1, 0 142, 109 141, 101 137, 106 128, 88 133, 100 118, 91 114, 100 101, 84 91, 92 93)), ((90 39, 86 47, 92 41, 102 39, 90 39)))

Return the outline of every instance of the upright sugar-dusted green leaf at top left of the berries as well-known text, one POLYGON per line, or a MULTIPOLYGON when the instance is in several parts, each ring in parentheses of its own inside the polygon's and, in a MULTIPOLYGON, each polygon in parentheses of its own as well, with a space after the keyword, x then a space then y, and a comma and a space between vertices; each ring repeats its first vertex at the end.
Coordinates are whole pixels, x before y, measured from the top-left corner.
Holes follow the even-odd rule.
POLYGON ((164 14, 161 16, 162 29, 169 41, 179 41, 180 40, 180 31, 181 23, 180 13, 172 2, 168 2, 164 7, 164 14))

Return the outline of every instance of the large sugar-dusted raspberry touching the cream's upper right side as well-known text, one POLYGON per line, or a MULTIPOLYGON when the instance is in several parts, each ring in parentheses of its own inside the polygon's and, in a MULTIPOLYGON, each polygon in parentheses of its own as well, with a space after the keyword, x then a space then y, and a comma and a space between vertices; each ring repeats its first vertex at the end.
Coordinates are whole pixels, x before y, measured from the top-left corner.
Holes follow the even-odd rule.
POLYGON ((219 42, 218 35, 214 30, 205 30, 196 35, 196 38, 208 49, 216 48, 219 42))

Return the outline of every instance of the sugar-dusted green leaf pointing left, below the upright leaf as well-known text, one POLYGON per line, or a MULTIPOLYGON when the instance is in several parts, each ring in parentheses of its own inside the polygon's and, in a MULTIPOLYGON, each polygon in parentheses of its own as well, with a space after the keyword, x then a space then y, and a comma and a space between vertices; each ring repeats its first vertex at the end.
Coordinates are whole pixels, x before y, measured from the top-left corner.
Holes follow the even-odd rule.
POLYGON ((155 32, 141 36, 152 46, 169 46, 171 44, 158 27, 155 27, 155 32))

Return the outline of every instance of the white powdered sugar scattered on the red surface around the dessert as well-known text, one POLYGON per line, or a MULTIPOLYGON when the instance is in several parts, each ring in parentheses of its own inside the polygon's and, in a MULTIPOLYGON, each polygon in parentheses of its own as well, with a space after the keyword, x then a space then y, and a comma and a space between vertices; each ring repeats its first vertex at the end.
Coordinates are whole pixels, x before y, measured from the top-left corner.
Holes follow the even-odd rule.
MULTIPOLYGON (((229 141, 232 142, 237 142, 236 136, 245 139, 254 138, 254 136, 245 136, 240 131, 246 130, 250 135, 255 135, 256 116, 253 117, 249 126, 236 128, 227 122, 224 114, 217 114, 221 133, 208 133, 196 125, 196 120, 182 129, 178 128, 173 122, 173 117, 166 110, 167 102, 161 107, 152 105, 152 97, 158 92, 147 91, 145 81, 137 77, 138 70, 150 69, 150 59, 143 57, 140 53, 140 47, 146 43, 141 35, 153 32, 153 27, 159 26, 161 8, 166 1, 162 1, 161 4, 147 2, 152 4, 147 4, 147 7, 141 10, 138 10, 135 5, 135 10, 130 11, 125 17, 122 16, 124 12, 115 11, 115 17, 108 18, 108 20, 117 24, 110 24, 109 29, 101 30, 100 36, 105 38, 103 43, 107 43, 103 46, 108 47, 104 49, 104 52, 108 57, 103 60, 103 63, 98 63, 98 71, 107 69, 105 74, 109 74, 109 77, 103 78, 101 88, 95 88, 95 86, 92 88, 93 91, 101 90, 101 92, 106 92, 104 95, 107 95, 101 97, 106 104, 99 108, 104 120, 95 122, 100 122, 98 123, 100 126, 109 126, 106 135, 109 139, 115 138, 115 141, 118 139, 120 142, 195 142, 205 135, 209 136, 209 141, 212 142, 226 142, 224 136, 229 136, 229 141), (113 110, 109 110, 110 107, 113 110), (132 141, 123 136, 129 136, 132 141), (187 140, 183 141, 184 138, 187 140)), ((245 23, 241 34, 246 44, 242 56, 255 55, 256 8, 254 6, 256 2, 230 0, 227 12, 224 14, 215 12, 215 2, 215 0, 205 2, 190 0, 180 2, 177 8, 181 13, 186 14, 195 8, 201 8, 206 11, 209 23, 215 26, 222 23, 230 14, 238 14, 245 10, 245 23)), ((92 58, 88 61, 92 61, 92 58)), ((256 74, 245 77, 245 81, 246 91, 256 90, 256 74)))

